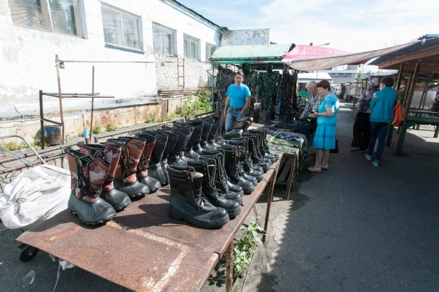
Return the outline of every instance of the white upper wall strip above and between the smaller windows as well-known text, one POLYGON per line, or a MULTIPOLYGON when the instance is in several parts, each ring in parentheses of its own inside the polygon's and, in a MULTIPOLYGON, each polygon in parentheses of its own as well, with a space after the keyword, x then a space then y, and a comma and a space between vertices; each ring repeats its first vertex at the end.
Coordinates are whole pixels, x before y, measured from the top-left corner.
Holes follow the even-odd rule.
POLYGON ((163 1, 151 1, 151 18, 154 23, 175 30, 178 57, 184 57, 183 35, 190 35, 200 40, 200 61, 206 60, 206 43, 219 46, 219 29, 202 22, 182 11, 175 6, 163 1))

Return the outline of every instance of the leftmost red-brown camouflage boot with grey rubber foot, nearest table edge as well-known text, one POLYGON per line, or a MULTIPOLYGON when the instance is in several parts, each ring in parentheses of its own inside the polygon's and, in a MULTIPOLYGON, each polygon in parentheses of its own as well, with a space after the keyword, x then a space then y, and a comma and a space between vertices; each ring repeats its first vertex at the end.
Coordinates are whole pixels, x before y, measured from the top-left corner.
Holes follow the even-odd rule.
POLYGON ((78 215, 87 225, 96 225, 112 220, 114 208, 99 197, 102 184, 107 178, 110 164, 79 151, 67 150, 71 175, 70 198, 67 209, 78 215))

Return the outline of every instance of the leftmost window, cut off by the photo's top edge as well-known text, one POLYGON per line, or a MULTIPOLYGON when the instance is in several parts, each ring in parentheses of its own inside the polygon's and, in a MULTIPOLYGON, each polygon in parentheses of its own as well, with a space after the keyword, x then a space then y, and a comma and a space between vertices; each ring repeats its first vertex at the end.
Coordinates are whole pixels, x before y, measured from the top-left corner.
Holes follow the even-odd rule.
POLYGON ((9 0, 16 26, 83 37, 80 0, 9 0))

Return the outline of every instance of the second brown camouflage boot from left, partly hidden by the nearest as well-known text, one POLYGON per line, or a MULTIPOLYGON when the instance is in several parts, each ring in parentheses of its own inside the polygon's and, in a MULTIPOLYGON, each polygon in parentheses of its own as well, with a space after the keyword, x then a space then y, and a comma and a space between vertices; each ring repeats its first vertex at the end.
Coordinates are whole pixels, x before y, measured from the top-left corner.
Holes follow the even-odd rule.
POLYGON ((121 147, 119 145, 85 144, 80 146, 80 152, 84 155, 104 159, 110 164, 107 179, 102 184, 100 198, 109 203, 116 211, 123 210, 128 206, 131 203, 129 196, 114 189, 113 186, 114 175, 121 158, 121 147))

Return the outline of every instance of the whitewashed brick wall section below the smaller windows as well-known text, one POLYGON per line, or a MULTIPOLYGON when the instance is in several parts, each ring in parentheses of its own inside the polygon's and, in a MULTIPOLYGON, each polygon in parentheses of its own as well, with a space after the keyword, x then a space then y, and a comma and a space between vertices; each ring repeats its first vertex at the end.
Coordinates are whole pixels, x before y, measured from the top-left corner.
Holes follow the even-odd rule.
MULTIPOLYGON (((185 89, 212 86, 212 76, 207 72, 212 70, 212 64, 179 57, 154 55, 157 62, 157 89, 183 89, 178 86, 178 62, 180 66, 184 62, 184 72, 180 72, 180 76, 185 78, 185 89)), ((183 67, 180 67, 180 70, 182 69, 183 67)), ((183 85, 181 81, 180 85, 183 85)))

